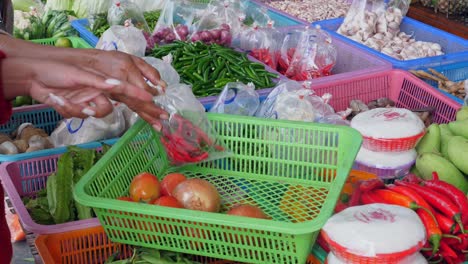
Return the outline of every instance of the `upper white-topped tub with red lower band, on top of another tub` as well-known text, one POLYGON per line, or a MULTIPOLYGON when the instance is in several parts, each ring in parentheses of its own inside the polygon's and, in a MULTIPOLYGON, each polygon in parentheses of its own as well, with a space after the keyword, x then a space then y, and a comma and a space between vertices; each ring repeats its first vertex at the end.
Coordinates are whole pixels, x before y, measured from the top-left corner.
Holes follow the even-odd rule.
POLYGON ((363 137, 362 146, 372 151, 406 151, 424 136, 425 125, 404 108, 375 108, 356 115, 351 127, 363 137))

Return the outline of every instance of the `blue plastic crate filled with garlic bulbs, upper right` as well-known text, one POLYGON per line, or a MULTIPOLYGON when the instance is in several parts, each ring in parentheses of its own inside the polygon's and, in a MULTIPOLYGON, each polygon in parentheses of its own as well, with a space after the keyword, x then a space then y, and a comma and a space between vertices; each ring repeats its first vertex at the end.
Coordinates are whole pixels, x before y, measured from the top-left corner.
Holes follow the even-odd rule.
POLYGON ((380 51, 367 47, 336 32, 343 23, 344 18, 336 18, 314 22, 314 25, 320 25, 336 38, 340 38, 345 42, 359 47, 366 52, 374 54, 392 63, 394 68, 410 70, 420 67, 437 67, 448 65, 460 61, 466 61, 468 58, 468 40, 452 35, 443 30, 421 23, 417 20, 405 17, 401 23, 400 30, 412 35, 416 40, 429 41, 439 43, 445 55, 434 56, 428 58, 414 60, 398 60, 390 57, 380 51))

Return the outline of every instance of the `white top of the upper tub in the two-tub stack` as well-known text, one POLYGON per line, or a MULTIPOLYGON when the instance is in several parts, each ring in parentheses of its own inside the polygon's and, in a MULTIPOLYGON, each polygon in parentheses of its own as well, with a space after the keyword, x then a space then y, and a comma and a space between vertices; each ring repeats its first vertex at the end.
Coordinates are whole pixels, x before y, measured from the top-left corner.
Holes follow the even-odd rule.
POLYGON ((424 131, 418 115, 404 108, 375 108, 356 115, 351 127, 372 138, 404 138, 424 131))

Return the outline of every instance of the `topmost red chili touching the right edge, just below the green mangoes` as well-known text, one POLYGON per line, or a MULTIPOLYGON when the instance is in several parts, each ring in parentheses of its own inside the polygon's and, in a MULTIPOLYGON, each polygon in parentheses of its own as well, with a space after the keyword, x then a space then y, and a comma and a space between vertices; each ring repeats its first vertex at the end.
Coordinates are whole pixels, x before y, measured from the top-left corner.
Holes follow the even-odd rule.
MULTIPOLYGON (((438 178, 436 172, 434 172, 434 175, 436 175, 435 178, 438 178)), ((452 200, 452 202, 455 203, 460 210, 463 224, 468 224, 468 198, 460 189, 451 185, 450 183, 440 180, 424 181, 423 185, 447 196, 450 200, 452 200)))

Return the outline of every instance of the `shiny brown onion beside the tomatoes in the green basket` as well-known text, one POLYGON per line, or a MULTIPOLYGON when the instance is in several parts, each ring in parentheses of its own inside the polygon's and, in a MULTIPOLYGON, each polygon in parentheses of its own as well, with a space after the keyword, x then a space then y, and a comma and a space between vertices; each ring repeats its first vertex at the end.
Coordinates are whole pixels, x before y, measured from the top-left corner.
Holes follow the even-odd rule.
POLYGON ((219 212, 221 196, 211 183, 203 179, 188 179, 174 189, 174 196, 186 209, 219 212))

